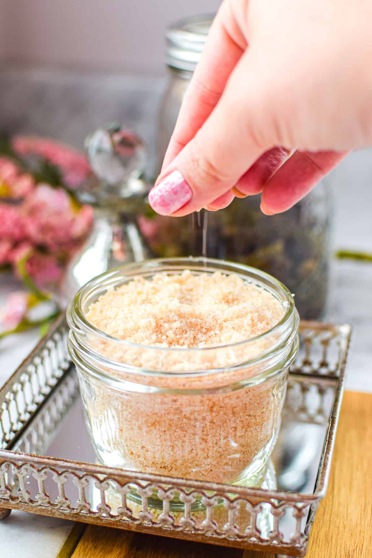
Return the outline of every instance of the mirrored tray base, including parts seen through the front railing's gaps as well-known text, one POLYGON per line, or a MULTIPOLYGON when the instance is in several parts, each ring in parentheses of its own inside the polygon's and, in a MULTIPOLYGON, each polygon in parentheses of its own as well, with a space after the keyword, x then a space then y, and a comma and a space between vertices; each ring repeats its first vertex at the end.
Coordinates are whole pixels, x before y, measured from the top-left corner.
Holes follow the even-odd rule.
MULTIPOLYGON (((262 488, 296 490, 301 493, 311 493, 314 489, 318 465, 322 454, 323 443, 327 431, 328 419, 332 407, 335 391, 335 380, 328 378, 304 377, 293 375, 287 389, 284 404, 281 431, 270 461, 267 475, 262 488)), ((36 453, 52 457, 71 459, 74 461, 94 462, 94 450, 90 444, 88 432, 84 424, 83 405, 79 396, 76 372, 71 369, 56 389, 54 395, 46 401, 35 420, 28 426, 14 449, 22 453, 36 453)), ((9 475, 10 476, 10 475, 9 475)), ((9 478, 8 482, 11 481, 9 478)), ((107 483, 106 483, 107 484, 107 483)), ((113 483, 108 483, 107 490, 100 490, 100 484, 94 478, 84 481, 71 475, 57 477, 52 473, 40 475, 30 474, 25 468, 25 475, 20 485, 19 476, 15 475, 12 482, 12 493, 21 489, 27 491, 36 501, 47 498, 51 501, 70 505, 77 502, 78 507, 86 511, 103 512, 105 509, 112 514, 118 514, 122 509, 122 490, 113 483), (44 486, 43 495, 40 482, 44 486), (103 496, 103 498, 102 498, 103 496)), ((141 487, 133 483, 129 485, 125 498, 125 506, 134 518, 141 518, 143 514, 141 487), (137 497, 136 497, 137 496, 137 497)), ((148 509, 154 518, 161 516, 162 505, 151 503, 148 494, 148 509)), ((174 498, 173 498, 174 501, 174 498)), ((39 503, 40 503, 39 502, 39 503)), ((161 502, 161 500, 158 500, 161 502)), ((195 526, 200 526, 206 520, 205 506, 200 504, 201 497, 195 497, 191 506, 191 517, 195 526)), ((161 502, 162 504, 162 502, 161 502)), ((170 511, 175 518, 175 525, 179 524, 184 514, 184 504, 180 509, 170 511)), ((236 503, 234 522, 243 527, 247 523, 247 507, 244 501, 236 503)), ((225 505, 216 506, 214 521, 222 528, 228 524, 229 510, 225 505)), ((306 514, 301 519, 305 521, 306 514)), ((269 504, 261 504, 256 517, 256 527, 260 536, 266 538, 273 529, 273 516, 269 504)), ((293 532, 292 510, 282 510, 280 521, 281 532, 290 537, 293 532)))

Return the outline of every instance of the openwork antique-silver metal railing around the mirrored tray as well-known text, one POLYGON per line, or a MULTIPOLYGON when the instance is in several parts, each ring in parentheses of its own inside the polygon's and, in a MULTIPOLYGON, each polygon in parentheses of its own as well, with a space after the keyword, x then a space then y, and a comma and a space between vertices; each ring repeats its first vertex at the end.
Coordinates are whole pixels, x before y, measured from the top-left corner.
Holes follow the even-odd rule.
MULTIPOLYGON (((323 359, 325 362, 323 362, 323 371, 321 373, 318 369, 310 369, 304 373, 302 366, 294 366, 292 371, 296 376, 313 377, 315 382, 316 378, 321 376, 323 379, 329 379, 330 382, 336 383, 334 403, 314 493, 299 494, 262 488, 231 487, 231 485, 226 484, 124 472, 123 470, 102 465, 76 463, 74 461, 44 458, 11 451, 20 432, 25 429, 32 417, 44 406, 47 398, 55 390, 60 379, 70 367, 69 355, 66 350, 67 326, 62 317, 56 321, 56 324, 46 338, 41 340, 30 356, 0 390, 0 424, 3 434, 1 439, 3 449, 0 451, 1 506, 9 509, 24 509, 33 513, 49 514, 56 517, 72 518, 76 521, 98 523, 100 525, 157 533, 171 537, 191 538, 192 540, 238 546, 247 549, 281 552, 294 556, 305 555, 315 512, 320 499, 326 492, 330 474, 330 464, 344 389, 345 364, 351 328, 347 324, 337 326, 303 322, 301 329, 302 331, 310 332, 309 339, 311 339, 312 334, 316 335, 321 332, 329 334, 329 339, 337 336, 340 348, 337 365, 330 371, 325 371, 327 367, 326 358, 323 359), (20 394, 23 394, 23 403, 20 394), (4 424, 4 422, 6 423, 4 417, 7 415, 8 426, 4 424), (29 470, 32 470, 33 477, 37 478, 39 483, 39 492, 35 500, 30 499, 24 484, 22 488, 22 482, 20 482, 20 490, 17 496, 12 496, 12 490, 7 485, 6 478, 9 466, 13 466, 16 469, 16 475, 20 475, 18 477, 20 480, 23 474, 22 468, 25 470, 24 468, 26 467, 27 469, 28 467, 29 470), (51 502, 50 497, 45 492, 42 477, 45 477, 47 472, 55 475, 55 481, 59 484, 60 498, 57 498, 55 502, 51 502), (63 483, 61 483, 61 479, 67 473, 74 475, 74 479, 76 479, 76 483, 75 480, 74 483, 79 488, 80 498, 76 507, 71 507, 70 501, 67 503, 66 497, 63 496, 63 483), (94 478, 95 487, 101 493, 102 498, 97 506, 98 512, 92 512, 85 505, 88 502, 85 499, 84 486, 80 486, 80 484, 84 484, 88 477, 94 478), (117 484, 119 492, 121 490, 122 506, 118 508, 116 516, 112 516, 112 509, 105 500, 105 490, 107 488, 104 487, 108 484, 108 480, 117 484), (128 486, 128 483, 132 483, 132 485, 137 483, 138 491, 142 498, 142 509, 138 513, 138 517, 134 517, 132 510, 128 507, 126 495, 129 490, 125 488, 128 486), (181 518, 181 524, 178 525, 175 524, 174 517, 169 510, 170 498, 166 499, 165 497, 163 500, 163 513, 158 517, 158 521, 154 519, 153 514, 148 509, 148 490, 156 489, 166 494, 170 485, 171 488, 177 488, 181 495, 183 494, 183 499, 181 499, 185 501, 185 511, 181 518), (213 496, 211 496, 211 492, 213 496), (195 519, 192 517, 191 503, 187 502, 187 498, 195 498, 194 493, 199 494, 204 499, 206 509, 206 517, 199 528, 196 527, 195 519), (192 496, 193 494, 194 496, 192 496), (228 522, 226 522, 222 531, 216 528, 211 514, 208 513, 215 506, 213 502, 216 495, 223 499, 228 513, 228 522), (243 534, 236 529, 234 523, 234 511, 236 511, 238 499, 239 502, 244 502, 244 506, 247 506, 246 509, 248 509, 252 520, 243 534), (263 538, 261 536, 262 533, 257 530, 255 518, 257 519, 257 514, 260 513, 259 509, 265 505, 270 506, 275 525, 268 533, 268 536, 263 538), (296 517, 297 521, 296 530, 293 536, 291 536, 291 540, 287 542, 282 540, 282 533, 278 529, 278 521, 275 520, 276 517, 279 519, 286 507, 293 508, 293 517, 296 517), (305 528, 301 529, 301 521, 306 516, 305 528), (183 522, 182 519, 184 520, 183 522)), ((311 344, 311 340, 309 343, 311 344)), ((322 362, 320 364, 322 365, 322 362)))

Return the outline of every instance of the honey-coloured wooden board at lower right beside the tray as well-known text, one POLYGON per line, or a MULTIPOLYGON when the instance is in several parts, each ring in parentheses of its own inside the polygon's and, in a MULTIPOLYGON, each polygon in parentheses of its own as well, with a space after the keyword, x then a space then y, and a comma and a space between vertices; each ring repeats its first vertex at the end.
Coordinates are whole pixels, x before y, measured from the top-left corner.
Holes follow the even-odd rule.
POLYGON ((306 558, 372 558, 372 393, 345 392, 306 558))

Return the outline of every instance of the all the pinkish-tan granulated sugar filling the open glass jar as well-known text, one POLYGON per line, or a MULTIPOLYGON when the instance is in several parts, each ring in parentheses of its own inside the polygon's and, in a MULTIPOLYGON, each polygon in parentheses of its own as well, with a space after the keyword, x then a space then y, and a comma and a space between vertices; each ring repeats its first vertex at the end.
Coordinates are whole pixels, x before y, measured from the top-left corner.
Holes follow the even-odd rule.
POLYGON ((280 424, 287 368, 277 363, 276 373, 265 378, 262 363, 235 364, 273 341, 254 341, 248 352, 244 344, 196 352, 179 348, 252 339, 276 325, 285 310, 269 292, 221 273, 159 273, 100 296, 86 312, 96 328, 154 349, 93 336, 96 353, 124 365, 107 368, 123 380, 120 389, 85 373, 79 377, 99 459, 139 472, 216 482, 244 482, 262 470, 280 424), (146 375, 136 367, 161 374, 146 375))

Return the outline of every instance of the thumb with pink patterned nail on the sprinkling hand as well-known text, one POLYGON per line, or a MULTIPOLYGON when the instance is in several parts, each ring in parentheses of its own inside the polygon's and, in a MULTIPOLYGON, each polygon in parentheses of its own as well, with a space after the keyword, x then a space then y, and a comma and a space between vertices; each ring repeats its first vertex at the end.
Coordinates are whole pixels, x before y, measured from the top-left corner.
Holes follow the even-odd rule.
POLYGON ((264 103, 249 64, 246 50, 210 116, 158 177, 148 196, 157 213, 181 217, 221 196, 227 199, 226 193, 272 147, 261 145, 253 133, 263 121, 264 103), (244 87, 248 76, 254 88, 244 87))

